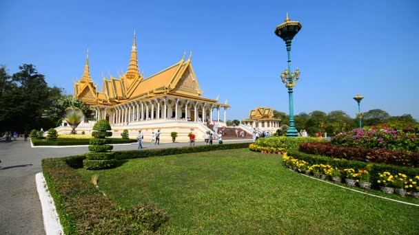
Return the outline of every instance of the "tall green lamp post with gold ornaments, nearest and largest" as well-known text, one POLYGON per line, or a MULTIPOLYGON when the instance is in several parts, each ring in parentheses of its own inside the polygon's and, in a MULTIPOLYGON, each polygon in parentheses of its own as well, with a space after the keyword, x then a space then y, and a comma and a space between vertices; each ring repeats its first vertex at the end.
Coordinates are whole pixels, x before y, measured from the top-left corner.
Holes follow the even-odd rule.
POLYGON ((288 100, 289 100, 289 128, 287 131, 287 137, 298 137, 298 131, 294 124, 294 104, 292 100, 293 87, 296 85, 296 81, 300 78, 300 71, 298 68, 295 73, 291 71, 291 41, 294 36, 301 30, 303 27, 298 21, 291 21, 288 18, 285 19, 284 23, 281 23, 276 27, 275 34, 285 41, 287 46, 288 54, 288 68, 285 69, 280 74, 282 82, 285 84, 285 87, 288 88, 288 100))

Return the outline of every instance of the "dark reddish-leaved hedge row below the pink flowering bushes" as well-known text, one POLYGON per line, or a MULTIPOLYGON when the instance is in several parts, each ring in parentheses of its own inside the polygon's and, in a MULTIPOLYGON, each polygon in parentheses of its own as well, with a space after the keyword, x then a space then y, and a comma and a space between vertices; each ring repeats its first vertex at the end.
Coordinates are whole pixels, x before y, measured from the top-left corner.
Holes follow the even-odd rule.
POLYGON ((338 147, 329 143, 303 143, 300 144, 300 151, 339 159, 419 167, 419 153, 398 150, 338 147))

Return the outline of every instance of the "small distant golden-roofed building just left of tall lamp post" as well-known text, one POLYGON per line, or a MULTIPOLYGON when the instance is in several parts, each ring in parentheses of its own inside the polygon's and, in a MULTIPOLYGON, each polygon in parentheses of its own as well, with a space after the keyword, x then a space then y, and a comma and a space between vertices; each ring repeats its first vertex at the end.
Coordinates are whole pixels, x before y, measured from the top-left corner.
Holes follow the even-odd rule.
POLYGON ((274 117, 274 109, 256 107, 250 111, 249 118, 242 120, 243 124, 259 131, 276 132, 280 126, 280 119, 274 117))

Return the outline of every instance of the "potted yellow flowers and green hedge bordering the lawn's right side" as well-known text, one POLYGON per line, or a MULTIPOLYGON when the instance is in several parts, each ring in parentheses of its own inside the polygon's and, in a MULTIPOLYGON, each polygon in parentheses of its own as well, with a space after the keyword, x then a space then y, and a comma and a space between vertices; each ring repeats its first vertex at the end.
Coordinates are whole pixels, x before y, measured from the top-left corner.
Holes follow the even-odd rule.
MULTIPOLYGON (((367 164, 361 161, 334 159, 318 155, 308 155, 298 151, 291 151, 283 155, 283 164, 298 172, 302 170, 301 164, 308 166, 315 176, 325 175, 322 179, 345 177, 351 186, 378 189, 380 187, 393 187, 406 190, 408 195, 416 197, 419 192, 419 168, 405 168, 385 164, 367 164), (292 157, 290 157, 292 156, 292 157), (365 186, 365 185, 368 186, 365 186)), ((336 179, 336 178, 335 178, 336 179)), ((349 183, 348 183, 349 185, 349 183)), ((384 192, 384 191, 383 191, 384 192)))

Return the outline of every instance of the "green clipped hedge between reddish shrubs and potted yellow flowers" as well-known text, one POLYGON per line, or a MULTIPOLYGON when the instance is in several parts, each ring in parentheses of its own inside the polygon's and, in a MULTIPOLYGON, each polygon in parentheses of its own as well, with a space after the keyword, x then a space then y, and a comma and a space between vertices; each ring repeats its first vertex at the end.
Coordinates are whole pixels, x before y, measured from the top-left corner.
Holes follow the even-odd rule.
POLYGON ((307 153, 302 153, 298 150, 290 150, 287 151, 287 155, 294 157, 295 159, 300 159, 307 161, 309 165, 315 164, 326 164, 330 165, 332 168, 339 168, 339 169, 347 169, 353 168, 355 170, 364 170, 369 168, 369 173, 371 175, 371 183, 373 183, 374 188, 378 188, 377 180, 379 179, 379 175, 382 172, 391 172, 392 175, 397 175, 398 173, 405 174, 412 179, 419 175, 419 168, 406 168, 402 166, 393 166, 387 164, 368 164, 367 162, 363 161, 354 161, 354 160, 347 160, 347 159, 336 159, 331 157, 325 157, 320 155, 311 155, 307 153))

